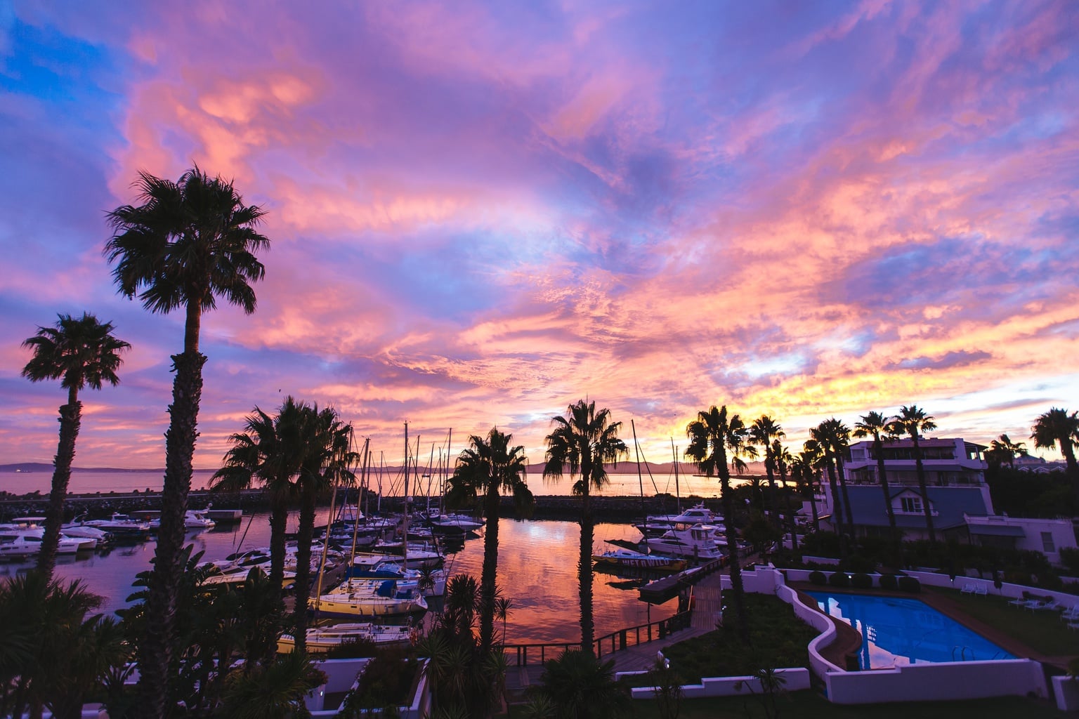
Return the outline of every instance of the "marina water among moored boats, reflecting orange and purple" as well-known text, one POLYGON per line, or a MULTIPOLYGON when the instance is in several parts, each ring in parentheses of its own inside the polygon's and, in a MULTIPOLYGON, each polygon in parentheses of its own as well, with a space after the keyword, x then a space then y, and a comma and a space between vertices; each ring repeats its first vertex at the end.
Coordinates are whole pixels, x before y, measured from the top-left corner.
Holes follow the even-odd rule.
MULTIPOLYGON (((325 510, 318 523, 326 521, 325 510)), ((290 517, 289 531, 296 529, 290 517)), ((509 642, 577 641, 576 559, 579 527, 573 522, 530 522, 503 520, 498 523, 498 584, 513 602, 506 624, 509 642)), ((640 533, 623 524, 596 527, 597 548, 605 539, 640 539, 640 533)), ((204 550, 204 559, 221 559, 240 548, 264 547, 270 542, 269 515, 245 516, 241 524, 223 529, 188 535, 195 550, 204 550), (246 531, 246 537, 244 533, 246 531)), ((154 542, 119 545, 85 557, 59 557, 57 575, 82 579, 91 591, 105 597, 103 609, 113 611, 125 606, 135 575, 150 568, 154 542)), ((483 561, 483 540, 470 539, 464 549, 447 557, 451 573, 470 573, 477 579, 483 561)), ((0 563, 0 577, 11 576, 32 565, 0 563)), ((607 573, 595 575, 596 635, 644 624, 670 617, 674 602, 650 606, 640 602, 633 578, 607 573)), ((500 627, 501 630, 501 627, 500 627)))

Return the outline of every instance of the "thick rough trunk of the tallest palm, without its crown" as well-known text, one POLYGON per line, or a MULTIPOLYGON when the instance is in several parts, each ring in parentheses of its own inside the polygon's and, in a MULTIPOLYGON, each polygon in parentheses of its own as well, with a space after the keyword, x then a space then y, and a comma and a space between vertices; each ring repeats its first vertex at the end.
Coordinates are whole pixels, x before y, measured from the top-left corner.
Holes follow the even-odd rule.
POLYGON ((191 460, 199 437, 202 368, 206 358, 197 350, 173 356, 176 379, 168 431, 165 433, 165 480, 161 492, 161 527, 153 575, 146 603, 146 635, 138 647, 139 693, 142 716, 165 715, 169 665, 176 624, 176 599, 183 572, 183 514, 191 489, 191 460))

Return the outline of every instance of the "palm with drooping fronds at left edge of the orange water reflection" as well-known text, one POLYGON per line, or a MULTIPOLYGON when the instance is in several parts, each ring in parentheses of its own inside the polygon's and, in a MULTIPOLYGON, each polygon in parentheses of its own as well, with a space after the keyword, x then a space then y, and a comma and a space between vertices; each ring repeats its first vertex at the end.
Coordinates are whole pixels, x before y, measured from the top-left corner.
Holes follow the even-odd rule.
POLYGON ((461 453, 457 467, 450 478, 448 498, 462 493, 476 496, 483 494, 483 508, 487 514, 487 528, 483 533, 483 569, 480 573, 480 649, 491 648, 494 637, 495 581, 498 569, 498 515, 502 506, 502 493, 509 492, 521 508, 534 503, 532 492, 524 479, 528 459, 524 447, 511 447, 513 434, 500 432, 492 427, 487 437, 473 434, 468 438, 472 445, 461 453))

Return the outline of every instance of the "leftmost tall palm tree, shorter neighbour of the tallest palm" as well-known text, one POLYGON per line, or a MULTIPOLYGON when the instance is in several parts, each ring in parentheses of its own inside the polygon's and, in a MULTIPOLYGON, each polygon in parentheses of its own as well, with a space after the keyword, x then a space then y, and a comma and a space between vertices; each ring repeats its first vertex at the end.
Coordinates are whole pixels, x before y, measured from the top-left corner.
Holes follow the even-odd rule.
POLYGON ((82 421, 79 390, 87 385, 91 389, 100 389, 105 383, 118 385, 117 370, 123 363, 120 352, 131 345, 112 336, 112 322, 101 323, 94 315, 83 313, 79 319, 57 315, 54 327, 39 327, 36 335, 23 341, 23 346, 33 348, 33 356, 23 368, 24 377, 30 382, 60 379, 60 387, 68 390, 67 404, 60 405, 60 438, 45 511, 45 534, 38 552, 38 569, 47 582, 56 566, 64 500, 82 421))

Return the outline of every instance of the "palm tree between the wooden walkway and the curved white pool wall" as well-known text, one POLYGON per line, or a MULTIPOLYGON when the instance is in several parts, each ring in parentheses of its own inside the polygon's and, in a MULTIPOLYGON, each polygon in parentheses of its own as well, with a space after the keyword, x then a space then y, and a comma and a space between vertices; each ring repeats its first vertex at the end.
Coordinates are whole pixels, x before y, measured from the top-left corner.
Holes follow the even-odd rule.
POLYGON ((727 531, 727 558, 730 568, 730 587, 734 591, 735 613, 738 617, 738 635, 748 645, 749 617, 746 613, 746 590, 742 586, 741 565, 738 562, 738 533, 735 530, 734 495, 730 492, 730 470, 727 457, 733 462, 741 462, 740 455, 747 453, 749 431, 741 418, 727 416, 727 407, 716 409, 713 404, 707 412, 698 412, 697 419, 691 421, 685 433, 689 445, 685 456, 697 464, 697 469, 706 476, 719 475, 720 494, 723 500, 723 515, 727 531))

